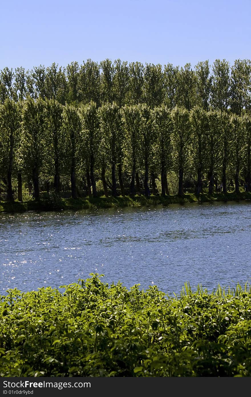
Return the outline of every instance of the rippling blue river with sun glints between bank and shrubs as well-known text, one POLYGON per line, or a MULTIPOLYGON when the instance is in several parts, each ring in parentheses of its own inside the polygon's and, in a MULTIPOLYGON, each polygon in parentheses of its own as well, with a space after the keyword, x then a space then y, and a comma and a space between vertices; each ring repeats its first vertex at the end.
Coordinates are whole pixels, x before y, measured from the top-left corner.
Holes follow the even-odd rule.
POLYGON ((0 214, 0 291, 59 287, 90 273, 179 294, 250 282, 250 202, 0 214))

